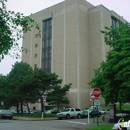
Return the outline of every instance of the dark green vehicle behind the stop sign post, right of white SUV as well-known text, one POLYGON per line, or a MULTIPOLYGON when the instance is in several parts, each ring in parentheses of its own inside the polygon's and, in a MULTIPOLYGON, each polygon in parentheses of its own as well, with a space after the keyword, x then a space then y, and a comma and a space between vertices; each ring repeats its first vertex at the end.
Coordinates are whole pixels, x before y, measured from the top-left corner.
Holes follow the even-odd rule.
POLYGON ((89 111, 89 117, 95 117, 95 116, 98 116, 100 117, 101 116, 101 112, 100 111, 97 111, 95 109, 88 109, 88 110, 84 110, 82 112, 82 117, 88 117, 88 111, 89 111))

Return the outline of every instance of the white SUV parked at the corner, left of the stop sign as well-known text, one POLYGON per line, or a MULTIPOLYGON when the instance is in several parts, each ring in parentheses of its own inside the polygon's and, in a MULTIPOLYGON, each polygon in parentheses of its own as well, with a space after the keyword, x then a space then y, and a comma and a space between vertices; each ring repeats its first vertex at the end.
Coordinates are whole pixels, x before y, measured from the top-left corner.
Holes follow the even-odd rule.
POLYGON ((82 117, 82 110, 79 108, 66 108, 64 110, 62 110, 60 113, 57 113, 57 117, 58 119, 62 119, 62 118, 81 118, 82 117))

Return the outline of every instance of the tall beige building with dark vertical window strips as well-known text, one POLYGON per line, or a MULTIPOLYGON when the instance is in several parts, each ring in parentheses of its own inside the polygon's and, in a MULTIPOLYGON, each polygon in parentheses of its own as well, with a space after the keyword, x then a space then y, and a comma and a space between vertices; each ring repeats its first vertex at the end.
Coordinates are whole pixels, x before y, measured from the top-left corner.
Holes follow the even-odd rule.
POLYGON ((86 0, 65 0, 31 17, 39 23, 41 37, 35 28, 24 34, 23 47, 29 52, 22 53, 22 61, 55 72, 63 84, 72 83, 69 106, 90 106, 91 87, 87 83, 109 50, 100 30, 125 20, 103 5, 93 6, 86 0))

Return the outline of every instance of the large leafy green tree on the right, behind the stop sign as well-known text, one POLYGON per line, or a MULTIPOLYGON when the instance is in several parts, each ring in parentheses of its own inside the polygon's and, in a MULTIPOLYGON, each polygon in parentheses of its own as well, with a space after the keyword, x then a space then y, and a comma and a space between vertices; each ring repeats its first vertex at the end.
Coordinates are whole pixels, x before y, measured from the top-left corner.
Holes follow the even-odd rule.
POLYGON ((130 24, 119 23, 118 27, 106 27, 102 31, 105 42, 110 46, 106 61, 94 71, 89 82, 99 87, 106 103, 130 102, 130 24))

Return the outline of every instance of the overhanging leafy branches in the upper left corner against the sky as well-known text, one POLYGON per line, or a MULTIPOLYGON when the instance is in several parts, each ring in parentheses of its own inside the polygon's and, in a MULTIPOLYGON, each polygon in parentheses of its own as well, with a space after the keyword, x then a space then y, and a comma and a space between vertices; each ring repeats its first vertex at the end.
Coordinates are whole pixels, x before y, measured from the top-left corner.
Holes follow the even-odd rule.
POLYGON ((18 40, 23 37, 23 32, 26 33, 35 26, 40 35, 40 28, 33 19, 19 12, 8 11, 5 2, 7 0, 0 0, 0 61, 9 54, 9 50, 13 50, 11 55, 16 58, 19 56, 17 50, 26 50, 20 49, 18 44, 18 40))

